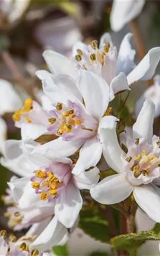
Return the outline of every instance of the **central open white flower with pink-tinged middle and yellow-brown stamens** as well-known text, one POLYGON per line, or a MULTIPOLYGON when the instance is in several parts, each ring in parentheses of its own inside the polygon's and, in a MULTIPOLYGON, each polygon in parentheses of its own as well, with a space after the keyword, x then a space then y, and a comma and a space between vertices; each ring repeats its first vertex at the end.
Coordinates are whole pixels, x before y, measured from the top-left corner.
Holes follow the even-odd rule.
POLYGON ((58 138, 35 149, 34 153, 66 157, 81 148, 73 173, 95 166, 102 154, 100 127, 117 120, 114 116, 103 117, 109 103, 105 79, 87 70, 81 70, 77 84, 67 75, 47 71, 37 71, 37 75, 53 102, 47 129, 58 138))

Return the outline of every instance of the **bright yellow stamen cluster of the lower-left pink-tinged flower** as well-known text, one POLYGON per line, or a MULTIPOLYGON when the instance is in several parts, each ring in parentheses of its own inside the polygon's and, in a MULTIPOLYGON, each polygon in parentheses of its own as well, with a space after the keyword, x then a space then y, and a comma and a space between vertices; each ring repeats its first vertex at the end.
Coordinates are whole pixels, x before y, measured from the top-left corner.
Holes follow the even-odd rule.
POLYGON ((63 182, 48 169, 46 171, 37 170, 31 181, 31 186, 35 189, 36 194, 39 194, 39 198, 49 202, 57 198, 59 190, 63 185, 63 182))

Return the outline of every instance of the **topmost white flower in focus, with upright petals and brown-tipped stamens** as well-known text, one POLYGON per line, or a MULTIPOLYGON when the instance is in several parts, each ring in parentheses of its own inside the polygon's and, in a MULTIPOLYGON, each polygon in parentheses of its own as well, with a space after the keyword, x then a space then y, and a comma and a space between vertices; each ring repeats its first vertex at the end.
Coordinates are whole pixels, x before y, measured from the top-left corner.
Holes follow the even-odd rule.
MULTIPOLYGON (((119 91, 130 90, 129 86, 134 82, 150 79, 160 59, 160 48, 155 47, 135 66, 131 36, 129 33, 124 37, 118 54, 110 35, 106 33, 101 37, 99 47, 96 40, 91 45, 77 42, 73 47, 73 60, 51 50, 46 50, 43 57, 53 74, 66 74, 76 79, 81 69, 102 76, 109 85, 111 100, 119 91)), ((47 78, 42 71, 37 75, 43 81, 47 78)))

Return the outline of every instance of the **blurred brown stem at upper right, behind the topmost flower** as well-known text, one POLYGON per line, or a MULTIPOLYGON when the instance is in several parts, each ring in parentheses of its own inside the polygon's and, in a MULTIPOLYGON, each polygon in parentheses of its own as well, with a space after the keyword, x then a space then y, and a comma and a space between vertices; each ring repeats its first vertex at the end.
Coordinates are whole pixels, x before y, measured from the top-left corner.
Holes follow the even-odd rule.
POLYGON ((130 28, 134 34, 135 45, 137 46, 139 58, 142 59, 143 57, 145 57, 146 49, 142 41, 137 19, 130 21, 130 28))

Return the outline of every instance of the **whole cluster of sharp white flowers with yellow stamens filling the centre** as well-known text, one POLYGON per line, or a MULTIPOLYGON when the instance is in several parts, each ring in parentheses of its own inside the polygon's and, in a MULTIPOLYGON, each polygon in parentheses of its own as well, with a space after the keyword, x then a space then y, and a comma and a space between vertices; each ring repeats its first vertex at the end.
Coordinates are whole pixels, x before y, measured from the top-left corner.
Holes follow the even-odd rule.
POLYGON ((121 121, 114 100, 135 82, 152 78, 160 59, 160 47, 155 47, 135 65, 131 36, 124 37, 119 51, 105 34, 99 45, 76 43, 71 59, 51 50, 43 53, 51 71, 36 72, 43 97, 40 103, 26 99, 15 111, 21 140, 5 141, 1 158, 21 177, 12 177, 9 195, 3 197, 9 204, 9 226, 29 228, 27 236, 34 239, 6 243, 2 232, 3 255, 13 255, 11 250, 39 255, 65 244, 83 207, 81 190, 106 205, 132 197, 160 222, 160 139, 153 135, 154 103, 145 100, 132 134, 123 133, 123 145, 116 130, 121 121), (115 174, 99 181, 99 163, 105 161, 115 174))

